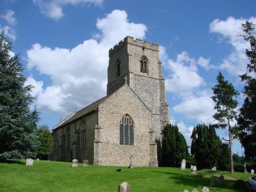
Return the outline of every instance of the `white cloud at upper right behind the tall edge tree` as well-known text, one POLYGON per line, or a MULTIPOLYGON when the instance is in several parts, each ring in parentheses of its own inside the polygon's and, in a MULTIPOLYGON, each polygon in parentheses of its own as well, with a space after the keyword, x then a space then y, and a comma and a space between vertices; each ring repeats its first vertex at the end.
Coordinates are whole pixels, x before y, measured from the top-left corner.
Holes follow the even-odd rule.
POLYGON ((220 65, 220 69, 227 70, 230 75, 237 76, 246 72, 248 60, 245 55, 245 49, 248 48, 248 43, 239 36, 242 33, 241 24, 245 23, 246 20, 256 23, 256 17, 248 19, 228 17, 226 20, 215 19, 209 25, 211 33, 220 34, 233 47, 232 53, 226 56, 220 65))

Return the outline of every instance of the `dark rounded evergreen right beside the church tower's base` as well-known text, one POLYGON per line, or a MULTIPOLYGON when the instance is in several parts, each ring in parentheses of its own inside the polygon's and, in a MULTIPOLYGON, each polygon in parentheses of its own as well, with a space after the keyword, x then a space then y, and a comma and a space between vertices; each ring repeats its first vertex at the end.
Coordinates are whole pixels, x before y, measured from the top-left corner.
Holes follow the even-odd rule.
POLYGON ((177 125, 167 124, 163 129, 163 166, 180 167, 182 159, 188 157, 187 143, 177 125))

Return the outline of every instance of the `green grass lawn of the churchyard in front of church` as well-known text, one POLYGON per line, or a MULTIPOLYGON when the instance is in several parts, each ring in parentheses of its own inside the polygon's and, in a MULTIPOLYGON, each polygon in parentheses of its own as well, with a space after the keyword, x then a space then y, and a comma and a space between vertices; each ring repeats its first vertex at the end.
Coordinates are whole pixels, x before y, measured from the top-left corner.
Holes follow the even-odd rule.
POLYGON ((84 168, 79 163, 34 161, 26 166, 25 160, 8 160, 0 163, 0 191, 118 191, 118 185, 127 181, 132 191, 174 191, 184 189, 200 191, 207 186, 210 191, 240 191, 233 188, 237 179, 248 181, 251 174, 212 172, 200 170, 192 175, 190 169, 182 171, 173 167, 127 167, 95 166, 84 168), (116 172, 116 168, 122 168, 116 172), (224 175, 222 187, 209 186, 209 178, 224 175))

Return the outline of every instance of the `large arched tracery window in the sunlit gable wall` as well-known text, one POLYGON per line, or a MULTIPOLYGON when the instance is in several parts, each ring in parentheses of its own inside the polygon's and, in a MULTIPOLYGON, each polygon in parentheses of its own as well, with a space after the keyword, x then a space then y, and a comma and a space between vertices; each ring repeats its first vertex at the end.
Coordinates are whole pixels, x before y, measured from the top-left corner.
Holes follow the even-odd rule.
POLYGON ((128 114, 120 121, 120 145, 134 145, 134 122, 128 114))

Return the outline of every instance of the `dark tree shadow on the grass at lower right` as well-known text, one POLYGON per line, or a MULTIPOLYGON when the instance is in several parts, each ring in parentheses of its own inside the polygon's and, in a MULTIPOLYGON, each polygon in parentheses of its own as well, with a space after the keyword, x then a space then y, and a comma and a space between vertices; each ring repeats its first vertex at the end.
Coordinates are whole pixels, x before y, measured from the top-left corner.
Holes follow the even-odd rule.
MULTIPOLYGON (((240 189, 235 189, 233 187, 234 180, 224 179, 224 183, 222 186, 218 186, 219 179, 216 179, 216 186, 210 186, 210 178, 205 177, 205 174, 197 173, 195 175, 184 172, 184 174, 179 173, 171 173, 171 172, 161 172, 161 171, 153 171, 156 173, 163 173, 168 174, 170 177, 169 179, 172 179, 177 184, 190 186, 193 188, 197 188, 198 185, 210 187, 212 189, 215 189, 216 191, 220 189, 229 189, 232 191, 241 191, 240 189)), ((185 188, 184 188, 185 189, 185 188)))

